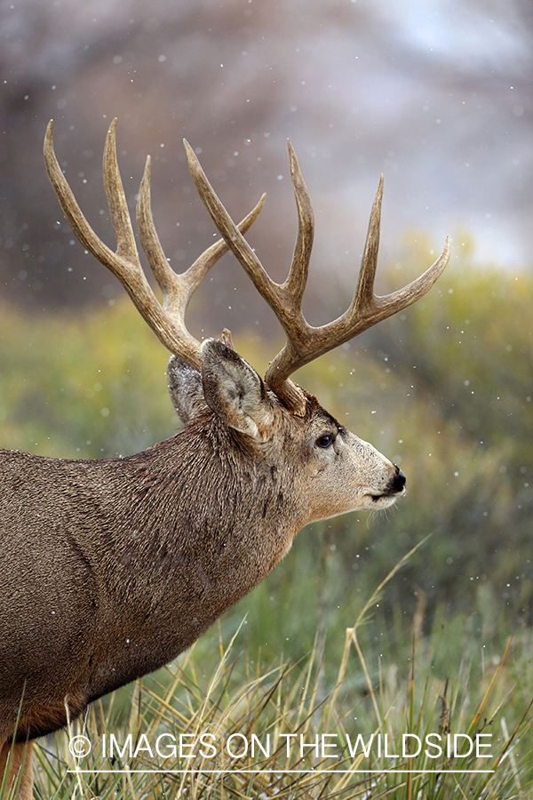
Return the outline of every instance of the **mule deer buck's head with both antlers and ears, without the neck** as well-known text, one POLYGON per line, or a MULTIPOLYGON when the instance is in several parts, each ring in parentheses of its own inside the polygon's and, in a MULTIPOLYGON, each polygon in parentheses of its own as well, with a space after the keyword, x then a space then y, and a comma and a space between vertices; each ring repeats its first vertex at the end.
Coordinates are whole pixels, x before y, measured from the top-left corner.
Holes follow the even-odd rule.
MULTIPOLYGON (((290 142, 290 174, 298 209, 298 237, 289 276, 282 284, 276 284, 267 275, 258 256, 243 236, 259 215, 265 196, 260 198, 244 220, 235 225, 207 180, 194 150, 184 140, 191 175, 211 219, 219 229, 222 241, 211 245, 182 275, 171 269, 152 217, 148 156, 139 188, 137 223, 148 264, 163 292, 160 304, 140 265, 116 162, 115 127, 116 120, 107 133, 103 172, 115 229, 116 252, 111 251, 96 236, 76 203, 53 151, 52 122, 44 141, 44 159, 52 186, 76 236, 87 250, 118 277, 147 324, 173 354, 168 372, 172 399, 179 415, 187 423, 194 416, 191 409, 200 409, 207 405, 230 428, 248 436, 248 444, 260 444, 263 452, 266 450, 266 443, 287 441, 285 436, 280 436, 281 428, 292 430, 298 427, 298 418, 305 420, 299 426, 302 430, 298 438, 305 438, 304 430, 313 429, 314 441, 306 441, 303 452, 307 453, 307 458, 314 457, 317 460, 318 471, 323 472, 328 459, 338 461, 338 451, 342 452, 342 460, 346 460, 346 474, 339 476, 338 467, 337 471, 331 471, 328 500, 321 499, 319 502, 321 517, 334 516, 355 508, 385 508, 393 503, 403 492, 405 485, 405 477, 399 468, 392 465, 370 444, 349 434, 329 415, 329 428, 328 424, 325 427, 322 425, 321 433, 321 422, 314 429, 315 426, 309 424, 310 420, 314 420, 317 414, 318 419, 321 419, 320 415, 324 412, 314 397, 290 380, 290 375, 422 297, 441 275, 449 260, 449 238, 446 239, 440 257, 422 276, 385 297, 377 296, 373 287, 378 262, 382 175, 370 213, 354 299, 345 314, 338 319, 330 324, 314 327, 306 322, 302 313, 302 299, 313 246, 314 215, 298 159, 290 142), (249 364, 235 354, 229 332, 223 334, 221 342, 207 340, 201 345, 191 336, 185 325, 185 311, 191 295, 213 264, 228 249, 235 253, 259 293, 274 310, 287 336, 285 346, 269 364, 264 381, 260 380, 249 364), (337 491, 333 491, 334 487, 337 487, 337 491)), ((295 457, 301 458, 301 455, 295 453, 295 457)), ((316 499, 316 492, 306 492, 304 486, 301 489, 302 497, 316 499)), ((315 518, 319 517, 306 517, 306 522, 315 518)))

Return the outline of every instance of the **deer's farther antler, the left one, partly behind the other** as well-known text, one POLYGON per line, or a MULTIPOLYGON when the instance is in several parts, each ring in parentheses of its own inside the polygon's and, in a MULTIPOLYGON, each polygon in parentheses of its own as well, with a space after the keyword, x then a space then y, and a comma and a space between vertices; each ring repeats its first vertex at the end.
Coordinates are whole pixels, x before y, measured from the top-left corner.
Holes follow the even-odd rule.
MULTIPOLYGON (((76 202, 72 189, 61 172, 55 156, 52 140, 52 120, 48 124, 44 138, 44 161, 52 187, 60 201, 70 227, 77 238, 107 267, 123 284, 141 316, 155 332, 165 348, 184 358, 196 369, 200 368, 200 342, 188 331, 185 325, 185 311, 188 301, 198 288, 211 267, 227 252, 227 244, 219 240, 203 252, 194 264, 182 274, 170 267, 155 231, 150 203, 150 156, 139 188, 137 204, 137 226, 139 239, 146 254, 148 264, 163 292, 163 302, 155 297, 147 277, 141 267, 135 236, 131 226, 130 212, 124 196, 123 183, 116 162, 115 147, 116 119, 107 132, 104 149, 104 186, 107 204, 116 237, 116 252, 104 244, 85 219, 76 202)), ((245 233, 257 219, 265 202, 265 195, 236 228, 245 233)))

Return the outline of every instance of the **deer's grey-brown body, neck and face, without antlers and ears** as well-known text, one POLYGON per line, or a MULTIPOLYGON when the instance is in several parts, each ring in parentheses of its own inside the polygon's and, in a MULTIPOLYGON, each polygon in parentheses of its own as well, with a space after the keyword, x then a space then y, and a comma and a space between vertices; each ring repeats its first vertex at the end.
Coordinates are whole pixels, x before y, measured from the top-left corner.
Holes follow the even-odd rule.
POLYGON ((252 402, 257 419, 270 415, 267 442, 206 408, 177 436, 123 459, 0 451, 0 740, 14 732, 22 697, 16 737, 25 741, 66 724, 66 699, 76 716, 185 650, 265 578, 321 506, 365 502, 357 452, 366 448, 383 473, 367 502, 383 507, 402 492, 394 465, 314 398, 305 420, 274 398, 252 402), (317 448, 320 436, 336 441, 317 448), (9 570, 15 562, 23 572, 9 570))

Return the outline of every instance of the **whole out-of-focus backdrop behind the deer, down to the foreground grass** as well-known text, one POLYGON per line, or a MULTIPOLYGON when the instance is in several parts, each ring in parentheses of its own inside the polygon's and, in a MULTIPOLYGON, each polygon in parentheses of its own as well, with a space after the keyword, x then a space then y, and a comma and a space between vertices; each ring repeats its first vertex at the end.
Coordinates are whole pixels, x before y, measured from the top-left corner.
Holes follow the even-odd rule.
MULTIPOLYGON (((259 644, 298 652, 317 626, 351 624, 360 598, 432 534, 394 581, 383 624, 420 631, 461 614, 480 641, 528 625, 528 0, 6 0, 0 14, 3 446, 115 455, 178 424, 163 348, 63 220, 42 156, 49 119, 60 164, 107 244, 101 153, 117 116, 131 209, 153 158, 155 224, 172 267, 187 268, 214 236, 187 172, 186 137, 236 220, 267 192, 248 236, 277 280, 297 228, 289 137, 316 221, 309 322, 337 316, 351 299, 380 172, 378 291, 426 269, 447 234, 452 258, 416 306, 298 373, 339 420, 402 465, 408 497, 390 518, 349 515, 300 533, 225 624, 248 611, 259 644)), ((205 283, 191 330, 231 328, 263 369, 281 332, 250 281, 225 257, 205 283)), ((445 647, 456 645, 461 636, 446 637, 445 647)))

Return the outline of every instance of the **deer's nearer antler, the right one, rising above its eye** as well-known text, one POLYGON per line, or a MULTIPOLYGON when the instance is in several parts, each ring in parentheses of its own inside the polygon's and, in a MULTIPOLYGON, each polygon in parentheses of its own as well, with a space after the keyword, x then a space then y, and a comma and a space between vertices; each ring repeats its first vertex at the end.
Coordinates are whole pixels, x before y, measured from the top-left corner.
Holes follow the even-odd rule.
POLYGON ((449 237, 434 265, 417 280, 403 289, 378 297, 374 294, 374 276, 378 262, 379 223, 381 200, 383 196, 383 175, 379 180, 378 191, 370 213, 370 223, 364 252, 362 255, 359 281, 352 305, 338 319, 320 327, 306 322, 302 313, 302 297, 306 287, 309 259, 313 246, 313 209, 307 193, 306 184, 298 166, 298 159, 289 142, 290 173, 298 208, 298 236, 289 276, 283 284, 276 284, 267 275, 250 244, 239 232, 219 197, 215 194, 209 180, 195 156, 193 149, 185 142, 189 169, 196 188, 207 210, 211 214, 219 233, 227 246, 235 253, 260 294, 267 300, 275 316, 287 335, 287 343, 269 364, 265 382, 274 393, 293 412, 302 413, 305 408, 301 390, 289 380, 289 376, 299 367, 309 364, 314 358, 322 356, 340 344, 352 339, 358 333, 370 328, 387 316, 392 316, 410 303, 422 297, 442 274, 449 260, 449 237))

